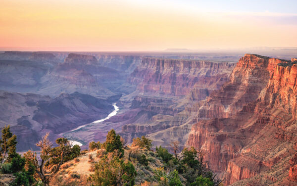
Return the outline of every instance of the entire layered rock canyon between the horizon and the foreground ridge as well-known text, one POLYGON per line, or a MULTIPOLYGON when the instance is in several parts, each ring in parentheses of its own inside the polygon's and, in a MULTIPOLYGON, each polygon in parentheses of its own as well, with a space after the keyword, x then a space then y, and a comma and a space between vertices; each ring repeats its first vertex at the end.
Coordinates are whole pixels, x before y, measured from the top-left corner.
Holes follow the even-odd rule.
POLYGON ((170 149, 178 140, 180 151, 201 151, 224 185, 295 186, 297 60, 239 56, 5 51, 0 127, 11 126, 19 151, 47 132, 82 149, 110 129, 128 144, 146 136, 170 149), (114 103, 116 115, 93 123, 114 103))

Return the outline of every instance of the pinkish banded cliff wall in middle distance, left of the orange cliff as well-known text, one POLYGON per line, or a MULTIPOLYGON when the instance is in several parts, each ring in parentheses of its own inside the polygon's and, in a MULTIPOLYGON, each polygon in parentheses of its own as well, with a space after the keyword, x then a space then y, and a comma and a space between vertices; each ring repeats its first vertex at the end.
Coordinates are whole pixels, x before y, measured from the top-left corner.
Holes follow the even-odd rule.
POLYGON ((137 90, 142 93, 181 96, 196 88, 205 95, 205 85, 209 92, 217 90, 227 80, 232 67, 232 63, 226 62, 144 57, 128 81, 138 84, 137 90))

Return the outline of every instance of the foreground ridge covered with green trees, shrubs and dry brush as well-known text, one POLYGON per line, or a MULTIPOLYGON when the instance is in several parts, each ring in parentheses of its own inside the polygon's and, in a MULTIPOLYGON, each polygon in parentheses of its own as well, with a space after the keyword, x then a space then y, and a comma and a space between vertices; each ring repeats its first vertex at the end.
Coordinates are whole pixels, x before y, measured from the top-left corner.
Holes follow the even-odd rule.
MULTIPOLYGON (((209 170, 203 154, 195 148, 178 150, 178 142, 168 149, 158 146, 151 149, 152 140, 142 137, 133 139, 131 146, 124 146, 125 140, 108 132, 103 143, 90 142, 89 150, 81 151, 72 146, 68 139, 56 139, 53 147, 47 134, 36 145, 37 154, 28 151, 22 156, 16 153, 16 136, 9 126, 2 130, 0 160, 1 173, 15 176, 11 186, 218 186, 221 181, 209 170), (95 161, 92 153, 96 152, 95 161), (89 154, 90 174, 80 175, 66 171, 79 164, 80 154, 89 154), (39 160, 39 161, 38 161, 39 160), (65 163, 70 162, 72 164, 65 163), (69 177, 66 177, 68 175, 69 177)), ((93 154, 94 154, 93 153, 93 154)))

